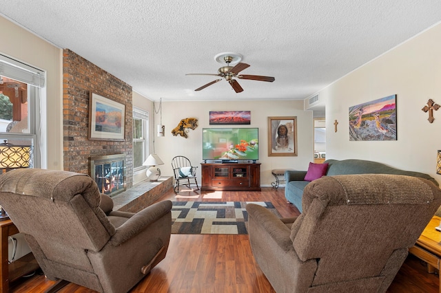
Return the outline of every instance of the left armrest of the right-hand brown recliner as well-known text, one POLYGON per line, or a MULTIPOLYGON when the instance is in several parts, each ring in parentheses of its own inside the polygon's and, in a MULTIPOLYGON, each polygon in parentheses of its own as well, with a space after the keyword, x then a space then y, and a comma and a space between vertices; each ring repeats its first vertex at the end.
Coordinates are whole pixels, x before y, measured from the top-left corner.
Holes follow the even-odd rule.
MULTIPOLYGON (((271 213, 267 208, 259 206, 258 204, 247 204, 248 212, 248 227, 254 225, 259 226, 264 230, 280 248, 283 250, 292 250, 292 241, 289 238, 291 230, 285 225, 284 221, 279 219, 276 215, 271 213)), ((249 231, 249 234, 254 231, 249 231)), ((267 237, 267 235, 260 235, 267 237)))

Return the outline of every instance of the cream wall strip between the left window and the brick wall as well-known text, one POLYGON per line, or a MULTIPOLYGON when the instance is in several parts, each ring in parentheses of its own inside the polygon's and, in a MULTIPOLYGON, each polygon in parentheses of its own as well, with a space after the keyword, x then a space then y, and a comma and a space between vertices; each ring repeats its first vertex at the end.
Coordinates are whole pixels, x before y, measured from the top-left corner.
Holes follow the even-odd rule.
MULTIPOLYGON (((47 169, 63 169, 63 96, 61 91, 62 50, 18 25, 0 17, 0 53, 18 61, 45 70, 46 107, 41 115, 47 116, 47 169)), ((44 164, 43 164, 44 166, 44 164)))

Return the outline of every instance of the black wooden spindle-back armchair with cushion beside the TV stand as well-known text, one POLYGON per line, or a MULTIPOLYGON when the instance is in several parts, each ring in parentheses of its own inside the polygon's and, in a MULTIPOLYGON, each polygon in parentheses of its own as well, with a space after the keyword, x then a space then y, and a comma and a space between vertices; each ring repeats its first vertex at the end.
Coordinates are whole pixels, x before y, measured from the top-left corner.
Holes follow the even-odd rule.
POLYGON ((183 155, 176 155, 172 159, 172 168, 175 184, 173 190, 175 193, 179 192, 179 186, 190 186, 190 180, 194 180, 196 184, 196 191, 199 190, 198 181, 196 180, 196 168, 197 166, 192 166, 192 163, 188 158, 183 155))

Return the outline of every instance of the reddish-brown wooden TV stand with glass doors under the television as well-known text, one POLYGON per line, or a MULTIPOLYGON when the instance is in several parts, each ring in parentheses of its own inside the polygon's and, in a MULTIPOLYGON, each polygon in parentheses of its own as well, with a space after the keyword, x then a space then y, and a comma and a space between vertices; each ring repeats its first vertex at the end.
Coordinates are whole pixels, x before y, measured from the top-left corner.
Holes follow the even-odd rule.
POLYGON ((260 191, 260 163, 201 163, 202 191, 260 191))

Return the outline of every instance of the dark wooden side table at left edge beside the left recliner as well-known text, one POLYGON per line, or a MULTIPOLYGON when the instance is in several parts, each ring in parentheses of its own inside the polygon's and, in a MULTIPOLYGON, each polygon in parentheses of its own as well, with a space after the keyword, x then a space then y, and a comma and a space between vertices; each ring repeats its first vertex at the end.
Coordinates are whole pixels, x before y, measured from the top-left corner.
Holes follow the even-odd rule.
POLYGON ((34 258, 32 252, 26 254, 24 257, 17 259, 8 264, 8 237, 19 233, 19 230, 14 225, 12 220, 4 219, 0 221, 0 292, 9 292, 9 283, 19 279, 19 277, 29 274, 39 268, 39 264, 34 258))

